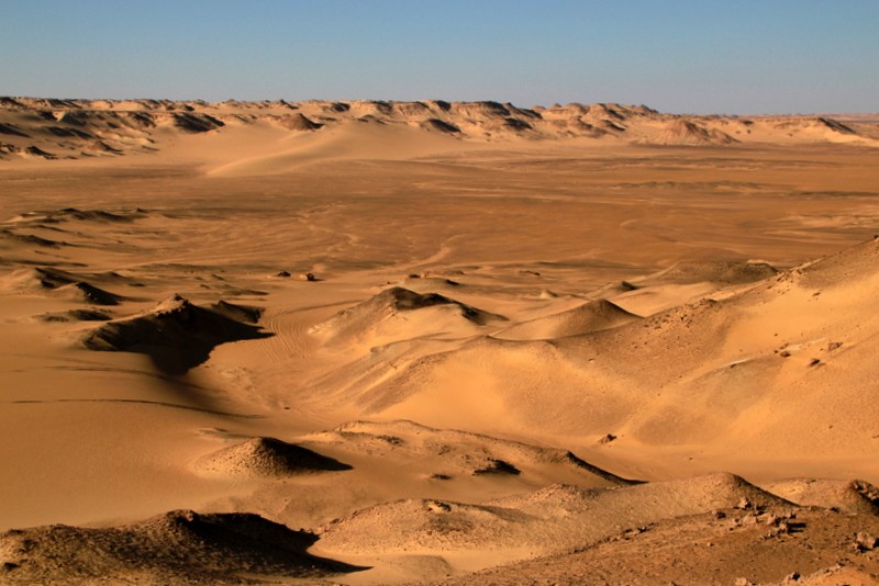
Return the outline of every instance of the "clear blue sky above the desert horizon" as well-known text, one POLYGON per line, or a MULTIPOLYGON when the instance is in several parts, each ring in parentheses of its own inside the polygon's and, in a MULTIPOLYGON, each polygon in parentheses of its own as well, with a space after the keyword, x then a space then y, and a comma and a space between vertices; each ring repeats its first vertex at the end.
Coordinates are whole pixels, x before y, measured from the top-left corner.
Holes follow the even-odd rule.
POLYGON ((879 0, 0 0, 0 95, 879 111, 879 0))

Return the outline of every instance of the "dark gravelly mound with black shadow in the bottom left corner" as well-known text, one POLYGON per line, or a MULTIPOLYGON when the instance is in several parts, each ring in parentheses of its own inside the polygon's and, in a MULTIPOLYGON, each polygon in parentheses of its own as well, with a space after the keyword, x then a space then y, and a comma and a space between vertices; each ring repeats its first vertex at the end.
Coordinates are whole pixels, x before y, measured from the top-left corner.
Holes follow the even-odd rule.
POLYGON ((307 553, 316 537, 257 515, 175 510, 108 529, 0 533, 3 584, 256 584, 365 570, 307 553))

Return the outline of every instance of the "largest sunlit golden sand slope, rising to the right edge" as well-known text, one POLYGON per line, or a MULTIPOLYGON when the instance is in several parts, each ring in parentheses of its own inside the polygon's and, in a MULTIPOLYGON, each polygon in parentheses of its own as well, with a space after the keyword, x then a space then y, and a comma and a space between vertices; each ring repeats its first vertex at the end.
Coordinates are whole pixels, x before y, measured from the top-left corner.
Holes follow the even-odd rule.
MULTIPOLYGON (((783 453, 808 441, 811 453, 827 455, 845 446, 849 454, 867 459, 861 469, 866 473, 875 461, 869 455, 875 431, 867 415, 872 408, 864 394, 871 367, 855 356, 866 350, 863 341, 874 326, 869 318, 849 316, 870 314, 866 292, 875 286, 879 271, 877 246, 869 241, 723 298, 676 307, 646 320, 612 304, 587 304, 586 309, 526 322, 497 337, 476 335, 439 351, 410 351, 409 360, 396 352, 372 353, 360 374, 351 368, 343 371, 344 395, 324 393, 356 401, 374 416, 439 426, 460 417, 459 406, 470 401, 503 405, 508 432, 524 433, 537 426, 545 433, 555 431, 559 441, 583 432, 613 432, 622 438, 617 447, 630 441, 652 446, 717 441, 715 449, 728 451, 730 457, 757 444, 783 453), (833 274, 833 285, 825 282, 825 274, 833 274), (590 327, 596 319, 608 322, 590 327), (578 328, 583 331, 554 337, 552 343, 500 339, 543 340, 554 330, 558 335, 578 328), (382 360, 387 360, 386 376, 377 375, 382 360), (448 387, 448 372, 468 373, 467 382, 458 383, 459 391, 448 387), (798 399, 781 407, 793 381, 798 399), (743 393, 743 386, 749 392, 743 393), (639 391, 646 387, 654 392, 639 391), (838 401, 833 412, 824 403, 827 393, 838 401), (815 421, 824 422, 822 431, 794 440, 793 430, 815 421), (843 429, 837 431, 834 421, 845 421, 843 429)), ((752 278, 750 268, 746 269, 745 277, 752 278)), ((774 273, 763 267, 754 270, 774 273)), ((743 280, 735 271, 733 277, 710 272, 720 280, 743 280)), ((674 273, 666 277, 679 279, 674 273)), ((431 330, 424 325, 419 331, 431 330)), ((336 384, 336 379, 325 381, 336 384)), ((478 413, 485 413, 480 426, 498 429, 490 410, 474 410, 469 417, 480 417, 478 413)))

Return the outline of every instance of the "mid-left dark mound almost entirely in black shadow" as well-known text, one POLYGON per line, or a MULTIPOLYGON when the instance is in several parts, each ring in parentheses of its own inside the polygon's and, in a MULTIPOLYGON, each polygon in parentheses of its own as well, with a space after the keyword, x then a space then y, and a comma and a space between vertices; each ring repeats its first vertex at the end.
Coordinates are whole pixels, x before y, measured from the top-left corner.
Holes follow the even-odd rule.
POLYGON ((148 354, 159 370, 182 374, 208 360, 221 343, 268 336, 256 326, 173 295, 136 317, 102 325, 82 345, 90 350, 148 354))

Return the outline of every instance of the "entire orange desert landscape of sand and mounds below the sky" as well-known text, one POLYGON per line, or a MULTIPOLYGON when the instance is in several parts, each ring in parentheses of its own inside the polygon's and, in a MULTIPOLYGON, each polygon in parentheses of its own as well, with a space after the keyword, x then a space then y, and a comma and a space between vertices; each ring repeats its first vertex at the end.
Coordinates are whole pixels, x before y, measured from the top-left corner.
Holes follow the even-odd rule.
POLYGON ((875 117, 1 99, 0 583, 875 583, 875 117))

